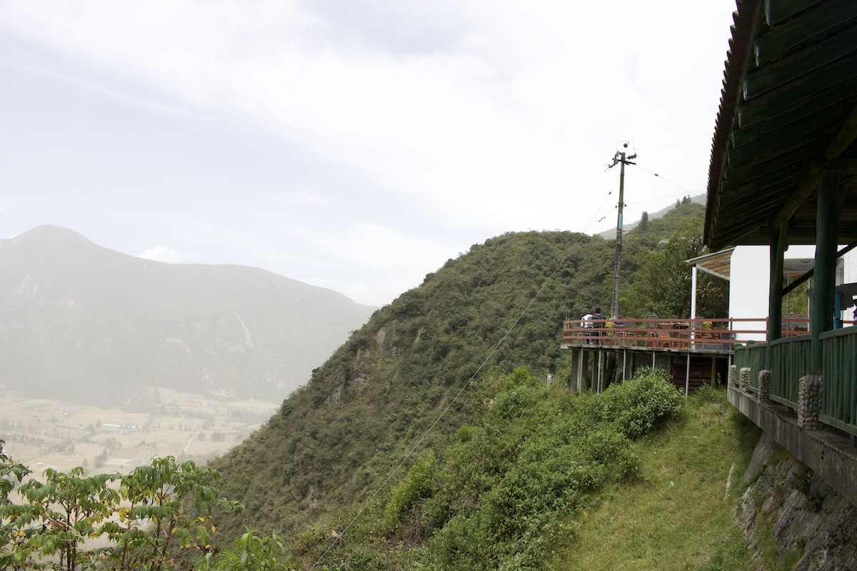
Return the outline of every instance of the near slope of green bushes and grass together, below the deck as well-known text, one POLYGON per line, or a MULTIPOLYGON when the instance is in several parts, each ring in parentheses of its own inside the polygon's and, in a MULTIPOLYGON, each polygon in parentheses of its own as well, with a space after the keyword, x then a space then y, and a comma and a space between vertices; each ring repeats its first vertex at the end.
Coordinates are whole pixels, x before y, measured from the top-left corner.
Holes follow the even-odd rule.
POLYGON ((661 373, 584 396, 523 370, 494 379, 480 388, 499 392, 479 422, 421 455, 358 517, 305 533, 301 568, 747 565, 732 511, 758 430, 722 391, 685 403, 661 373))

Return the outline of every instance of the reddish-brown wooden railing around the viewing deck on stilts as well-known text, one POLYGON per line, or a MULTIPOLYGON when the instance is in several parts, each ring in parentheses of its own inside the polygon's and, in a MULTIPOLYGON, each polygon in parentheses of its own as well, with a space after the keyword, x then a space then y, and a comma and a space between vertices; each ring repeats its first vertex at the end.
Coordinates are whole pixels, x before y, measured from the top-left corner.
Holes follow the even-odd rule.
MULTIPOLYGON (((745 319, 594 319, 586 327, 580 319, 566 319, 565 345, 674 348, 731 352, 752 336, 766 336, 766 318, 745 319)), ((782 336, 806 333, 806 319, 784 320, 782 336), (802 328, 802 329, 801 329, 802 328)))

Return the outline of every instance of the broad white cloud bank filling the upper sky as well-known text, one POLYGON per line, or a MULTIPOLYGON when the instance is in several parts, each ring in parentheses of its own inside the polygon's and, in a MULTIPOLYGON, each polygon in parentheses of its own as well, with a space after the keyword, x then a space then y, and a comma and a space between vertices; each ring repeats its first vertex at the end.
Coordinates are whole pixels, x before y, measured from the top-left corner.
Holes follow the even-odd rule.
MULTIPOLYGON (((582 166, 595 174, 637 125, 673 121, 692 98, 664 74, 692 86, 701 67, 676 68, 674 33, 687 27, 665 17, 674 2, 5 6, 15 33, 247 116, 434 215, 500 227, 536 218, 534 194, 559 198, 582 166)), ((725 48, 728 27, 719 33, 725 48)))

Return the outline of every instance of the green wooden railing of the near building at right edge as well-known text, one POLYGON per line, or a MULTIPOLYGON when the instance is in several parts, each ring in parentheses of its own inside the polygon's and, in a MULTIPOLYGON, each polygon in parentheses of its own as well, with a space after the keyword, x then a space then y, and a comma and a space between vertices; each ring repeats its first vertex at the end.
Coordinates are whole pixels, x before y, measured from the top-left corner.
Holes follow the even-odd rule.
MULTIPOLYGON (((848 323, 848 322, 847 322, 848 323)), ((818 419, 857 436, 857 327, 826 331, 819 338, 824 353, 824 384, 818 419)), ((758 373, 771 372, 770 399, 797 411, 800 378, 812 372, 808 335, 735 348, 735 366, 749 367, 750 390, 758 390, 758 373)))

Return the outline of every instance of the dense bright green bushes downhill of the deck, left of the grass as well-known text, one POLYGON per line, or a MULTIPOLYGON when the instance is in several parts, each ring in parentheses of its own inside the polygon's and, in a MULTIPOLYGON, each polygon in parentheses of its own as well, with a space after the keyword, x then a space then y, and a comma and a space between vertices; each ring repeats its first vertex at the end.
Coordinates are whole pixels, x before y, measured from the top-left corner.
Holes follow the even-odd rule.
POLYGON ((576 396, 525 368, 494 369, 472 396, 481 420, 414 462, 334 568, 543 568, 598 491, 637 473, 632 438, 684 406, 663 372, 576 396))

